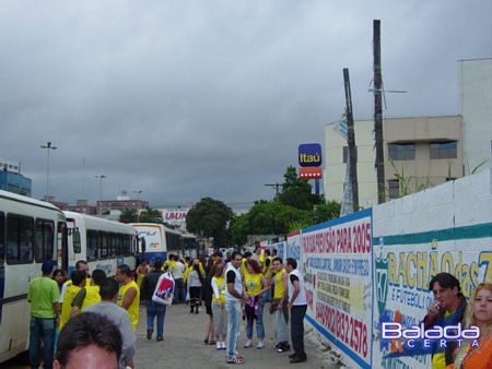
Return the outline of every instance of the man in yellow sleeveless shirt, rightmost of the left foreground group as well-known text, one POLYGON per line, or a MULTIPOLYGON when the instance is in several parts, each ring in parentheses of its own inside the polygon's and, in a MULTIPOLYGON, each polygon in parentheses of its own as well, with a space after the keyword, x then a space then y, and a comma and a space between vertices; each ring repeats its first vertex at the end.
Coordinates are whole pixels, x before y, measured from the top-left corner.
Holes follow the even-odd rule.
POLYGON ((131 326, 133 328, 133 331, 137 331, 137 323, 139 322, 140 289, 131 276, 130 266, 126 264, 119 265, 116 270, 116 278, 121 284, 117 303, 128 311, 131 326))

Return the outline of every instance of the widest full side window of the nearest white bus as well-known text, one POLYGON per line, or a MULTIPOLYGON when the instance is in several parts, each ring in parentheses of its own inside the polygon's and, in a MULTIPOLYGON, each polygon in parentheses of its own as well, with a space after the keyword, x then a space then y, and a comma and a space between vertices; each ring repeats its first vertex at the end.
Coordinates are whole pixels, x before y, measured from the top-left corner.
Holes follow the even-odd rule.
POLYGON ((7 216, 7 262, 32 263, 34 219, 27 216, 7 216))

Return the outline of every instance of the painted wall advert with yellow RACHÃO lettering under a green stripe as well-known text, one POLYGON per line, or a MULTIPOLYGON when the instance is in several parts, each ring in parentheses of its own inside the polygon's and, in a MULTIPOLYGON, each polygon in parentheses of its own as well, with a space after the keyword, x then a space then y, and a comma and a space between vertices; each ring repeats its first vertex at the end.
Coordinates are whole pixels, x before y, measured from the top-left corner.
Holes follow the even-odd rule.
MULTIPOLYGON (((492 282, 492 224, 419 234, 375 237, 374 331, 383 322, 403 329, 419 325, 434 302, 429 282, 446 272, 458 278, 469 298, 482 282, 492 282)), ((377 334, 377 336, 378 336, 377 334)), ((382 368, 430 368, 431 355, 414 355, 405 340, 374 344, 373 362, 382 368), (398 357, 395 357, 398 356, 398 357)))

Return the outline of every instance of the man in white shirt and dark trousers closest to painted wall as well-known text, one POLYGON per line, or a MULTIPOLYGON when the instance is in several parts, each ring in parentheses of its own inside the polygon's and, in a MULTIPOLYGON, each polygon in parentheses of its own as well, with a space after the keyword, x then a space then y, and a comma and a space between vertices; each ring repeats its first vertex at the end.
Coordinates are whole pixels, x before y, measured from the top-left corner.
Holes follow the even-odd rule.
POLYGON ((291 341, 294 354, 289 355, 291 362, 307 360, 304 352, 304 317, 307 310, 306 288, 304 277, 297 270, 297 262, 293 258, 286 260, 289 273, 289 309, 291 310, 291 341))

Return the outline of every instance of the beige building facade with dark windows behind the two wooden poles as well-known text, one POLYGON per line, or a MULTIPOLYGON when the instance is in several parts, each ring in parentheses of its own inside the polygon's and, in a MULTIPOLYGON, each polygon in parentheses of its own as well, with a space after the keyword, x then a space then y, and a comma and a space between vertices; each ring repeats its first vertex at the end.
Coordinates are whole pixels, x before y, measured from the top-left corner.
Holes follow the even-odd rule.
MULTIPOLYGON (((377 204, 374 121, 354 122, 359 203, 377 204)), ((386 118, 383 121, 386 199, 462 177, 461 117, 386 118)), ((348 146, 338 123, 325 128, 325 198, 343 195, 348 146)))

